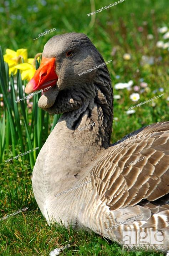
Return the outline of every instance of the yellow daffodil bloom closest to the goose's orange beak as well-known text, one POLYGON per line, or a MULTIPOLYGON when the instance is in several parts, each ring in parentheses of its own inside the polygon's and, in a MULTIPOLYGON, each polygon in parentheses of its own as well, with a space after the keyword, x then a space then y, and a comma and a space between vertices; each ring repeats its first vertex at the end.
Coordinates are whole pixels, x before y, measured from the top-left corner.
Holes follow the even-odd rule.
MULTIPOLYGON (((28 59, 28 62, 32 63, 34 59, 28 59)), ((34 76, 36 69, 30 63, 22 63, 15 66, 15 68, 21 70, 21 78, 22 80, 31 80, 34 76)))

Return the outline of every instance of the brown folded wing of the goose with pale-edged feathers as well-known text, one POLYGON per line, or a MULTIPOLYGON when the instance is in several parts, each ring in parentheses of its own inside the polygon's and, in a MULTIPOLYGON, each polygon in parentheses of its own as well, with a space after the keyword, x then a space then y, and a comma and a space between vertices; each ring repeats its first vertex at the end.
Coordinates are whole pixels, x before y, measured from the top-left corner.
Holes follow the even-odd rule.
POLYGON ((156 123, 128 134, 99 158, 91 180, 110 210, 149 204, 155 211, 167 204, 168 141, 169 122, 156 123))

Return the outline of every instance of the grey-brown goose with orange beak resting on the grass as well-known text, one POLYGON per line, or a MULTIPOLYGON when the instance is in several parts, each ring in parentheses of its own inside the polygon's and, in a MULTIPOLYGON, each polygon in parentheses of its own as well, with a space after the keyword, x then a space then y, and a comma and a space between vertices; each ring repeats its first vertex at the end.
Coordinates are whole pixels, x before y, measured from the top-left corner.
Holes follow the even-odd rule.
POLYGON ((166 251, 169 122, 140 128, 111 144, 113 90, 103 63, 83 33, 55 35, 44 46, 25 92, 42 89, 39 108, 62 116, 32 172, 36 202, 48 224, 62 221, 124 247, 142 245, 133 234, 151 233, 155 242, 145 243, 158 247, 163 238, 155 249, 166 251))

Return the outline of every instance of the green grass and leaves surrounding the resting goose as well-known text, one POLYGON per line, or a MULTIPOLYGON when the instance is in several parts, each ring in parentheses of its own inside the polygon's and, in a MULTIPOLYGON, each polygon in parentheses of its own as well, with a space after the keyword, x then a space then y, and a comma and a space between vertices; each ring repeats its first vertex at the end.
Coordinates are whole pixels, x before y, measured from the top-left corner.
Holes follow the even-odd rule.
MULTIPOLYGON (((134 93, 127 89, 116 90, 114 95, 114 117, 112 143, 124 135, 145 125, 168 120, 168 49, 159 49, 156 43, 163 39, 158 27, 168 24, 168 0, 126 0, 125 2, 103 10, 96 16, 87 14, 102 6, 109 5, 109 0, 97 0, 90 3, 86 0, 60 1, 32 0, 2 1, 1 12, 1 86, 0 99, 4 107, 0 107, 0 218, 19 209, 28 207, 24 213, 1 220, 0 242, 1 255, 48 255, 54 248, 70 243, 71 247, 61 255, 162 255, 159 252, 128 252, 123 251, 115 242, 84 231, 65 229, 60 225, 49 227, 43 218, 32 193, 31 173, 38 151, 5 163, 5 160, 23 153, 30 148, 42 147, 58 117, 48 115, 37 108, 38 95, 34 96, 33 108, 28 108, 26 101, 15 104, 17 95, 23 98, 22 85, 18 72, 17 91, 13 77, 8 75, 8 67, 3 64, 2 55, 6 48, 17 50, 27 48, 29 57, 42 52, 44 44, 55 34, 67 32, 86 33, 98 48, 108 64, 112 85, 118 82, 133 80, 140 86, 141 81, 147 82, 144 91, 140 87, 138 102, 132 102, 129 96, 134 93), (15 4, 14 4, 15 2, 15 4), (93 7, 92 7, 93 8, 93 7), (28 25, 29 24, 29 25, 28 25), (38 34, 56 27, 56 33, 50 33, 35 41, 38 34), (153 39, 147 39, 152 34, 153 39), (130 60, 124 60, 123 54, 129 53, 130 60), (153 57, 153 64, 143 63, 143 56, 153 57), (9 81, 11 91, 9 91, 9 81), (164 90, 163 92, 161 90, 164 90), (127 115, 131 106, 164 93, 152 103, 144 104, 135 109, 134 114, 127 115)), ((39 65, 39 63, 36 63, 39 65)), ((38 66, 37 66, 38 67, 38 66)))

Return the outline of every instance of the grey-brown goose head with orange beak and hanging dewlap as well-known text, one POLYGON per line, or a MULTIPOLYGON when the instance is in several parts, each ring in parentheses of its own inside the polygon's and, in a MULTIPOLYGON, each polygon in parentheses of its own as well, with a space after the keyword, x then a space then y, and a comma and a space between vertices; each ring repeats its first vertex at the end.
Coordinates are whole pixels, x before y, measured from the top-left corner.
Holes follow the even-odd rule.
MULTIPOLYGON (((85 34, 56 35, 45 44, 41 65, 27 84, 25 93, 29 94, 42 89, 43 95, 38 105, 52 114, 77 109, 87 98, 96 97, 96 90, 91 85, 94 80, 101 83, 103 78, 97 74, 98 69, 79 74, 102 63, 104 60, 101 54, 85 34), (45 90, 49 86, 52 88, 45 90), (77 91, 79 95, 75 99, 73 94, 76 95, 77 91), (81 93, 83 95, 80 95, 81 93), (65 109, 64 106, 58 105, 58 101, 61 105, 65 105, 65 109), (66 108, 66 104, 69 108, 66 108)), ((103 70, 106 70, 104 76, 110 84, 107 67, 99 68, 101 73, 103 70)))

